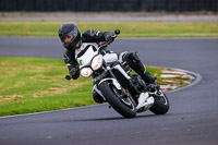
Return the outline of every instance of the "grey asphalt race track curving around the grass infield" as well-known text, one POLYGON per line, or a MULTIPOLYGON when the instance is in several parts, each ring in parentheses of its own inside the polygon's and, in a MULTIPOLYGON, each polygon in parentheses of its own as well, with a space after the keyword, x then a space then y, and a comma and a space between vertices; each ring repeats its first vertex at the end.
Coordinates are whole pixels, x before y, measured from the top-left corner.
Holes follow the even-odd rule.
MULTIPOLYGON (((149 65, 201 74, 192 87, 168 93, 165 116, 124 119, 107 105, 0 118, 1 145, 217 145, 218 39, 117 39, 110 48, 137 51, 149 65)), ((56 38, 0 38, 1 57, 62 58, 56 38)), ((51 100, 52 101, 52 100, 51 100)))

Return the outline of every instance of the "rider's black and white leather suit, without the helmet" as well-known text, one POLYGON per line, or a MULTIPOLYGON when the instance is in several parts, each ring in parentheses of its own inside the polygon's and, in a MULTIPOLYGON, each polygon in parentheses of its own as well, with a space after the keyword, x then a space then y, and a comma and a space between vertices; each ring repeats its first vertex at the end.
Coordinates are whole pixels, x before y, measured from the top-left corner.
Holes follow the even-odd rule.
MULTIPOLYGON (((78 69, 76 69, 78 67, 76 57, 86 47, 86 45, 83 45, 83 43, 96 43, 96 46, 97 46, 98 43, 108 41, 109 39, 112 39, 113 36, 114 36, 114 33, 111 33, 111 32, 101 33, 99 31, 88 29, 82 34, 82 45, 80 48, 77 48, 75 50, 65 50, 65 52, 63 53, 63 60, 64 60, 66 67, 69 68, 69 72, 70 72, 72 78, 76 80, 80 76, 80 71, 78 71, 78 69)), ((125 52, 121 52, 121 53, 114 53, 113 51, 106 50, 104 59, 106 59, 106 61, 107 60, 108 61, 119 60, 120 62, 125 61, 146 82, 154 83, 156 80, 156 76, 153 76, 148 72, 146 72, 146 68, 141 62, 136 52, 125 51, 125 52)))

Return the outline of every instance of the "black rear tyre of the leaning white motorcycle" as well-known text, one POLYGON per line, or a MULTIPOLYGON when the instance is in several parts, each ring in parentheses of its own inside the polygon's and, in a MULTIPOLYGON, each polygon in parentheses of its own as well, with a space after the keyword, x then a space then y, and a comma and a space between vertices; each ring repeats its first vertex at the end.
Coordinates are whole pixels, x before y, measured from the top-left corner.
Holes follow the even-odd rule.
POLYGON ((169 100, 165 93, 160 90, 160 95, 154 95, 155 102, 153 107, 149 109, 155 114, 165 114, 168 112, 170 108, 169 100))

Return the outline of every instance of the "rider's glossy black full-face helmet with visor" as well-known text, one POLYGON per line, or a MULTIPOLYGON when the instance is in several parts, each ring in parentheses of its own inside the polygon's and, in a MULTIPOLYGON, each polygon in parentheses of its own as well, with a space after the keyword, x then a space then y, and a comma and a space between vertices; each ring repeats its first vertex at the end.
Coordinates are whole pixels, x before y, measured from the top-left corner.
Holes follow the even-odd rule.
POLYGON ((63 47, 68 50, 76 49, 77 43, 81 41, 81 32, 74 23, 63 24, 58 34, 63 47))

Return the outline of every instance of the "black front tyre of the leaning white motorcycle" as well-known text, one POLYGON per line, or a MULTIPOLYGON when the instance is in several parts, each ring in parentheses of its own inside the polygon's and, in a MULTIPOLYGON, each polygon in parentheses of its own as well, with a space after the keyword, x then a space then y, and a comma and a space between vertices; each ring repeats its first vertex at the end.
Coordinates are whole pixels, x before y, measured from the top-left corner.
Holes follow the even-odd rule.
POLYGON ((121 116, 125 118, 134 118, 136 116, 136 109, 132 100, 129 97, 121 97, 119 90, 110 81, 102 82, 99 85, 99 89, 106 100, 121 116))

